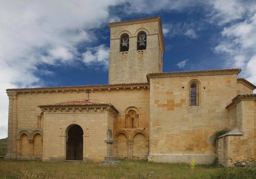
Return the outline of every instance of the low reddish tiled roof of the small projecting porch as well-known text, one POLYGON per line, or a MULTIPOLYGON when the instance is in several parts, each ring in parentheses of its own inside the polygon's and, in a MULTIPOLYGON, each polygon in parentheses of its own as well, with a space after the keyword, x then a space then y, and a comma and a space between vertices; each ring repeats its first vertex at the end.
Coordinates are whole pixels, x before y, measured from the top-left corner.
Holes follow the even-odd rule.
POLYGON ((55 104, 46 104, 46 105, 39 105, 38 107, 75 107, 75 106, 110 106, 112 107, 117 113, 119 111, 110 103, 103 103, 97 102, 92 100, 80 100, 80 101, 64 101, 55 104))

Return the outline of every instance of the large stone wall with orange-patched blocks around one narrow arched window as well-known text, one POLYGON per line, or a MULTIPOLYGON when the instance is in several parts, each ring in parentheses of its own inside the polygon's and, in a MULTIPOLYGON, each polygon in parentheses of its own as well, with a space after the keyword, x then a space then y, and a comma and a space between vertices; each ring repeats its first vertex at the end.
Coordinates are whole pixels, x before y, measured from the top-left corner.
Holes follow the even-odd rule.
POLYGON ((236 96, 236 78, 236 74, 150 78, 149 161, 213 162, 213 134, 229 128, 225 106, 236 96), (189 106, 192 79, 200 83, 199 106, 189 106))

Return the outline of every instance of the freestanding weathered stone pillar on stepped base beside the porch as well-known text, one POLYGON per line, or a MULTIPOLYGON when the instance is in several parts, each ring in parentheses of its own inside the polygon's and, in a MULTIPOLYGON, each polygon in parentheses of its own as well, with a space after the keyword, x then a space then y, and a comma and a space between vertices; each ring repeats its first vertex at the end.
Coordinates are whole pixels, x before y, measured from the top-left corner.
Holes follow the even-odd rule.
POLYGON ((113 156, 113 143, 115 140, 112 140, 111 129, 108 129, 107 135, 108 139, 104 141, 107 143, 107 156, 104 157, 104 161, 101 161, 100 164, 117 166, 119 161, 115 161, 115 157, 113 156))

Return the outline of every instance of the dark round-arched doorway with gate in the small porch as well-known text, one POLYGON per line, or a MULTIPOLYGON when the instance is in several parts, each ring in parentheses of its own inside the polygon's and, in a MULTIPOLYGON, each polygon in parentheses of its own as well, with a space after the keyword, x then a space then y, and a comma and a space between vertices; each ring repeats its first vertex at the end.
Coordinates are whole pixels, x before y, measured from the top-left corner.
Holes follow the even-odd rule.
POLYGON ((72 125, 67 131, 67 160, 83 160, 83 129, 72 125))

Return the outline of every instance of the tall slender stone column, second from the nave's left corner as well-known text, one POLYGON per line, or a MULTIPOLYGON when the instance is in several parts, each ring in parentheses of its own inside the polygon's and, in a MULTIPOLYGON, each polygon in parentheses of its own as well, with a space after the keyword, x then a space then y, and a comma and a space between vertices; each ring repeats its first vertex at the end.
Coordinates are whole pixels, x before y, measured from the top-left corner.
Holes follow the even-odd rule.
POLYGON ((13 152, 17 153, 17 125, 18 125, 18 119, 17 119, 17 92, 13 92, 13 152))

